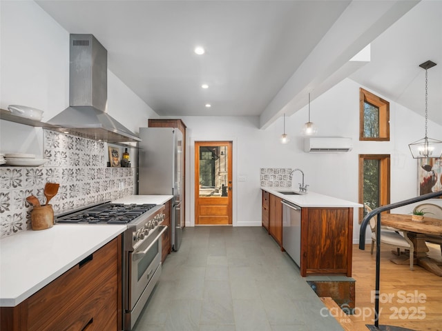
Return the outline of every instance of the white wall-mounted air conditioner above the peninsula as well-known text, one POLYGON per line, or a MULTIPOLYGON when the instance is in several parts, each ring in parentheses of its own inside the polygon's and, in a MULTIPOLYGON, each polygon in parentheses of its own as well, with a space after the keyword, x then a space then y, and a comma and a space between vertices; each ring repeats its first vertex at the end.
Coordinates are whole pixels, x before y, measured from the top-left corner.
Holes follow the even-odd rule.
POLYGON ((305 137, 305 152, 348 152, 352 150, 352 138, 344 137, 305 137))

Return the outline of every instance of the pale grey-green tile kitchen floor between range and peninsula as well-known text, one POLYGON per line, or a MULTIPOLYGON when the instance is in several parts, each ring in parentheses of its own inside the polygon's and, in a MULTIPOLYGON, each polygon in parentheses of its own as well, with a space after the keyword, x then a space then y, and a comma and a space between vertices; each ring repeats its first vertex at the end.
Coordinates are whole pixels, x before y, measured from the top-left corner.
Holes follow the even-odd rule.
POLYGON ((343 330, 323 307, 262 228, 185 228, 133 330, 343 330))

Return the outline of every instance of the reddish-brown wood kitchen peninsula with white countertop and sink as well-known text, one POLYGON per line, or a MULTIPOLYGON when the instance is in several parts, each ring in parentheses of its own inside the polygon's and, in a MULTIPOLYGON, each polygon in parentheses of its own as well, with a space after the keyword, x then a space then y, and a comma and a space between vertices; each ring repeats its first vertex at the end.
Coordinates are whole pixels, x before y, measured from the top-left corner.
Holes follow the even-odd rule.
MULTIPOLYGON (((324 194, 285 194, 291 188, 262 187, 262 226, 285 250, 297 245, 297 256, 291 256, 307 274, 344 274, 352 277, 353 210, 363 205, 324 194), (282 201, 294 204, 300 211, 299 237, 283 240, 285 225, 282 201)), ((287 213, 287 212, 286 212, 287 213)), ((287 226, 291 226, 288 224, 287 226)), ((286 228, 287 229, 287 228, 286 228)), ((287 238, 287 237, 286 237, 287 238)), ((291 250, 289 250, 289 255, 291 250)))

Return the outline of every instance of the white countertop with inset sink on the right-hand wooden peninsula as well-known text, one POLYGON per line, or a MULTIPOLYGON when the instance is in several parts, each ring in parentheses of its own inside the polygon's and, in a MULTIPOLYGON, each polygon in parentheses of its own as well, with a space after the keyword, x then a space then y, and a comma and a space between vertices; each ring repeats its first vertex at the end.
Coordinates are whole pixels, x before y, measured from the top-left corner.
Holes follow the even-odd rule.
POLYGON ((352 201, 347 201, 343 199, 338 199, 335 197, 329 197, 328 195, 319 194, 316 192, 307 192, 306 194, 282 194, 280 192, 287 192, 287 191, 294 191, 297 192, 297 190, 293 190, 291 188, 269 188, 262 186, 261 190, 265 190, 269 192, 270 194, 276 195, 276 197, 280 197, 281 199, 284 199, 285 201, 289 201, 291 203, 294 203, 295 205, 298 205, 300 207, 308 208, 308 207, 330 207, 330 208, 359 208, 363 207, 361 203, 356 203, 352 201))

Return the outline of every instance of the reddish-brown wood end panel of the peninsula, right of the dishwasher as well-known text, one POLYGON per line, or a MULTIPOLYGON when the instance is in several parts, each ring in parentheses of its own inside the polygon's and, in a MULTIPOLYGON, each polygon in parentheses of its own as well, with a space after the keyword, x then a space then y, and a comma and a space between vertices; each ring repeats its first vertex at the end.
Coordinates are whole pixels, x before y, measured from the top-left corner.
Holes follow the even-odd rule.
POLYGON ((353 208, 302 208, 300 274, 352 277, 353 208))

